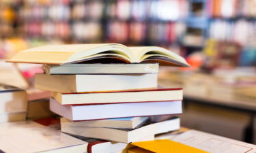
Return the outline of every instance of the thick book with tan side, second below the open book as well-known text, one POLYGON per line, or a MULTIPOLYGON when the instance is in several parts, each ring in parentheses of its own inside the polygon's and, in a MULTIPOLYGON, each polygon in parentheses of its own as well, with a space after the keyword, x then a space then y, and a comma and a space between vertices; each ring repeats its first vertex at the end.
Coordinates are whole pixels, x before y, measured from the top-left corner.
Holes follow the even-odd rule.
POLYGON ((94 92, 156 88, 157 73, 115 75, 35 74, 35 88, 55 92, 94 92))

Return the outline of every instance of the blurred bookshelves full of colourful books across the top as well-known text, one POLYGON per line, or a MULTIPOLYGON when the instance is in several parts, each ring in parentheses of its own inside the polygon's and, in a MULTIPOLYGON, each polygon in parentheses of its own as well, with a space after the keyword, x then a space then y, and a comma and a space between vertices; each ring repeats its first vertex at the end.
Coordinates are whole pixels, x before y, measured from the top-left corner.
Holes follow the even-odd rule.
POLYGON ((203 51, 207 59, 221 58, 222 67, 253 66, 255 6, 253 0, 5 0, 0 37, 162 46, 183 56, 203 51), (238 46, 230 55, 236 62, 219 46, 238 46))

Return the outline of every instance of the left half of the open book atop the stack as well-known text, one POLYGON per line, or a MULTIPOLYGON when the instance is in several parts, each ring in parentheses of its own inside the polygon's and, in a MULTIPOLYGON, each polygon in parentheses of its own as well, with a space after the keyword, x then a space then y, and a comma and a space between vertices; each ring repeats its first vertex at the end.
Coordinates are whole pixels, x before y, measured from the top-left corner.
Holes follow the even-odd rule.
POLYGON ((71 44, 48 45, 18 52, 9 62, 60 65, 77 63, 91 58, 116 56, 129 63, 134 62, 132 52, 122 44, 71 44))

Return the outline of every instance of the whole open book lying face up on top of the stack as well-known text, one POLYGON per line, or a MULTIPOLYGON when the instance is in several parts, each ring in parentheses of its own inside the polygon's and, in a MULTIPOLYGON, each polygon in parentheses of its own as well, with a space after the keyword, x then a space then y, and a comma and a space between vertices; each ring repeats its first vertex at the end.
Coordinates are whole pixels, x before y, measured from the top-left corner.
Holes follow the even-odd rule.
POLYGON ((62 65, 85 61, 115 59, 122 63, 164 63, 189 66, 182 56, 156 46, 127 47, 122 44, 48 45, 18 52, 9 62, 62 65))

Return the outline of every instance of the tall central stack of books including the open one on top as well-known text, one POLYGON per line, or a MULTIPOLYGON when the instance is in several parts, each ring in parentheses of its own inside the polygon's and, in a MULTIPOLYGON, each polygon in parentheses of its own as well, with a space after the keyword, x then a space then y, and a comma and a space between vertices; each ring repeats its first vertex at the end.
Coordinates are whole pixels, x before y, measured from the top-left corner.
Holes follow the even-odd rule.
POLYGON ((180 129, 177 117, 153 123, 147 117, 182 114, 182 88, 158 88, 156 63, 188 64, 164 48, 51 45, 19 52, 10 62, 44 64, 35 87, 51 91, 50 109, 63 116, 64 133, 130 143, 180 129))

